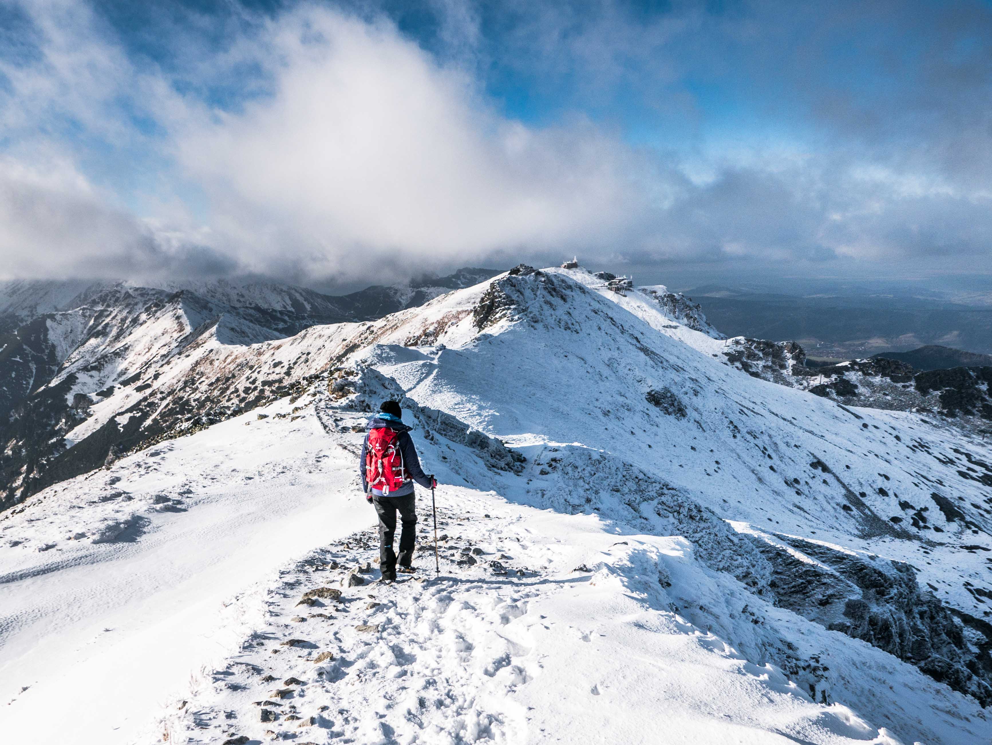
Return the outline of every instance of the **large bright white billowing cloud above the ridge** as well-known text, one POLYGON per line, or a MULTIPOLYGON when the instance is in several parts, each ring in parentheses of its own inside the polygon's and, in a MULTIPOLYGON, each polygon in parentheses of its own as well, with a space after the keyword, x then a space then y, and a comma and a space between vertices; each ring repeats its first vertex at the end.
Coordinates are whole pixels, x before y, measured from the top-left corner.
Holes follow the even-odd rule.
POLYGON ((321 271, 602 244, 643 207, 629 151, 593 127, 535 130, 387 23, 308 8, 258 40, 271 96, 178 133, 254 268, 288 246, 321 271), (264 236, 260 241, 258 238, 264 236))

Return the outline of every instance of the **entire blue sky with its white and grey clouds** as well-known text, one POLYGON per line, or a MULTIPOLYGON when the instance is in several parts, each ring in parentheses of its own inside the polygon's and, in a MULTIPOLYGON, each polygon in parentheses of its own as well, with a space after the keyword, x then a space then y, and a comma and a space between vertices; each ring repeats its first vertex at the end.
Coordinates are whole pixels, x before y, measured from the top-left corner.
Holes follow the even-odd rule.
POLYGON ((6 276, 333 288, 575 252, 658 281, 992 270, 989 2, 0 18, 6 276))

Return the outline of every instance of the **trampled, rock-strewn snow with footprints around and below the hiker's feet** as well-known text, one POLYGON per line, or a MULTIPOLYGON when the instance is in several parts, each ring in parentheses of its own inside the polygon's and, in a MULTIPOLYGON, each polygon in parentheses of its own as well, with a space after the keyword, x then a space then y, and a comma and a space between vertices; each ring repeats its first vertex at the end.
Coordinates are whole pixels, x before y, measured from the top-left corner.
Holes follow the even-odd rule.
POLYGON ((658 607, 659 557, 684 559, 684 542, 617 542, 594 518, 442 494, 439 577, 423 522, 416 579, 383 585, 373 570, 348 586, 377 556, 371 531, 298 562, 245 599, 264 602, 265 626, 170 707, 169 741, 899 742, 658 607), (464 549, 477 563, 457 563, 464 549), (574 570, 590 556, 594 571, 574 570), (300 604, 320 587, 341 597, 300 604))

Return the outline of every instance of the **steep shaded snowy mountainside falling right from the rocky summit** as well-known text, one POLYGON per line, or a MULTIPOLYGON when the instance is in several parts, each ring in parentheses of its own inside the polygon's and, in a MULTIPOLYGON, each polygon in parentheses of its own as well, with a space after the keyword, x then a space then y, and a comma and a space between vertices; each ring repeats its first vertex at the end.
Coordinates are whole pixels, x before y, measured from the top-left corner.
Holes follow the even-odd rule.
POLYGON ((724 544, 714 565, 992 700, 981 443, 742 375, 557 270, 473 293, 381 328, 380 342, 406 344, 411 325, 413 338, 427 327, 434 349, 380 346, 368 362, 521 448, 529 502, 609 510, 654 533, 686 504, 755 526, 753 554, 724 544), (804 562, 818 568, 791 581, 804 562))

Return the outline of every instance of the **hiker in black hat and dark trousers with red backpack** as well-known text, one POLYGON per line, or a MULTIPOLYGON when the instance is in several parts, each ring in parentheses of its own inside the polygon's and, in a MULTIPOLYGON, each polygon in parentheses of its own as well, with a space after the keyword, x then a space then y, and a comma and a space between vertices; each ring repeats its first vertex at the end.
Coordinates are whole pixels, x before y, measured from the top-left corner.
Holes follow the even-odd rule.
POLYGON ((365 499, 375 505, 379 515, 379 570, 383 581, 392 582, 397 571, 414 572, 417 539, 414 481, 425 489, 437 485, 434 476, 428 476, 421 468, 410 428, 403 424, 403 410, 396 401, 382 402, 378 416, 369 422, 358 467, 365 499), (397 512, 403 523, 399 557, 393 551, 397 512))

